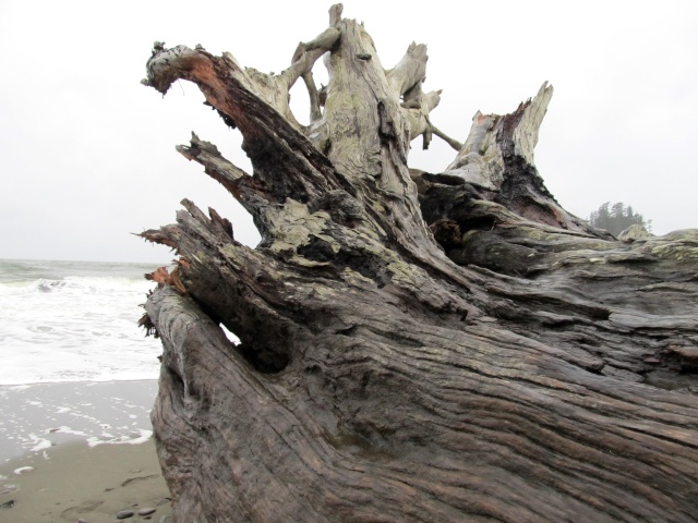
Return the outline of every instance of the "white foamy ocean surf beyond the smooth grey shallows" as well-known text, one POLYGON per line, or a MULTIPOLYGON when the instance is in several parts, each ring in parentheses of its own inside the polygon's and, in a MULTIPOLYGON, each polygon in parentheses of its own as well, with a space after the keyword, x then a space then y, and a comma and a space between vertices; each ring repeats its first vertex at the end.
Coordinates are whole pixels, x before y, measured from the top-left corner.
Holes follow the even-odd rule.
POLYGON ((137 327, 156 265, 0 259, 0 385, 156 379, 137 327))

